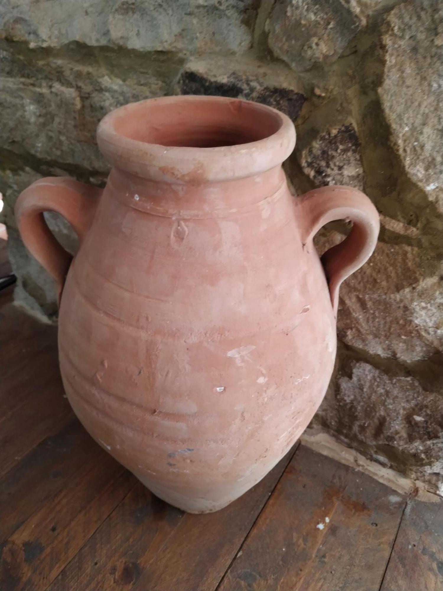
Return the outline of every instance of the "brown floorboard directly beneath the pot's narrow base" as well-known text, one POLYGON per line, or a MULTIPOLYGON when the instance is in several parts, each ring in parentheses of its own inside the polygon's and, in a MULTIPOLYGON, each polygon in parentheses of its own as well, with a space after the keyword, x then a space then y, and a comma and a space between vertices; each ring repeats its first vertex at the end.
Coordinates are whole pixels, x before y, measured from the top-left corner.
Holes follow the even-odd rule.
POLYGON ((209 515, 185 515, 135 486, 48 591, 214 589, 284 467, 283 460, 252 491, 209 515))

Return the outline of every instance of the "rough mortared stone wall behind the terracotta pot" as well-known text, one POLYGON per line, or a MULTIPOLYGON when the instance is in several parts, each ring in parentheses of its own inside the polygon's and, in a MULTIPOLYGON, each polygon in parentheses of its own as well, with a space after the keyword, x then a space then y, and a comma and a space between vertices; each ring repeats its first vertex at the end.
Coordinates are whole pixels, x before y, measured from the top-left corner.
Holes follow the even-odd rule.
MULTIPOLYGON (((103 184, 110 109, 174 93, 276 106, 297 126, 297 193, 350 184, 376 204, 369 264, 341 289, 320 427, 443 494, 443 5, 437 0, 3 0, 0 190, 16 298, 56 316, 12 208, 31 181, 103 184)), ((69 226, 51 227, 76 248, 69 226)), ((324 250, 346 225, 318 236, 324 250)))

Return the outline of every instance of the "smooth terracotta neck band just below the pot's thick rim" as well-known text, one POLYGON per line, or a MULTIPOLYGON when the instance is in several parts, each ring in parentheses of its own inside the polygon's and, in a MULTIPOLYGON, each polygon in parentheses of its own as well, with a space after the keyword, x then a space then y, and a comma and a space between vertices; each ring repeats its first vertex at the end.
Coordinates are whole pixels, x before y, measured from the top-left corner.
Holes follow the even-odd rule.
POLYGON ((172 183, 113 168, 108 187, 126 206, 164 217, 227 217, 277 200, 286 189, 281 165, 245 178, 202 183, 172 183))

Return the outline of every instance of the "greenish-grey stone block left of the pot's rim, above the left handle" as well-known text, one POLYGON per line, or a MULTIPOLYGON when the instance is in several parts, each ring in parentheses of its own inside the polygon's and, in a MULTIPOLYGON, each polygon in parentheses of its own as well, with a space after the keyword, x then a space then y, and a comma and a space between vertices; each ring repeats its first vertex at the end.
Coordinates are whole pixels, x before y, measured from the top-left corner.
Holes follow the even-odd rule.
POLYGON ((100 119, 129 102, 168 93, 183 60, 135 52, 0 46, 2 148, 106 173, 96 145, 100 119))

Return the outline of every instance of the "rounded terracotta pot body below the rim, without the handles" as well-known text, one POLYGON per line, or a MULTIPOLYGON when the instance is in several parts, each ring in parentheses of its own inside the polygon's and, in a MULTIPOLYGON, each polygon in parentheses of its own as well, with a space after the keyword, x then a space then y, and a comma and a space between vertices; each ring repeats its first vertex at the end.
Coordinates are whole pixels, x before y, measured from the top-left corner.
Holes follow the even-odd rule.
MULTIPOLYGON (((323 268, 302 248, 283 171, 265 176, 265 199, 196 217, 140 209, 153 187, 114 170, 61 299, 74 411, 186 511, 219 509, 262 479, 307 427, 334 365, 323 268)), ((207 190, 187 188, 193 200, 207 190)))

